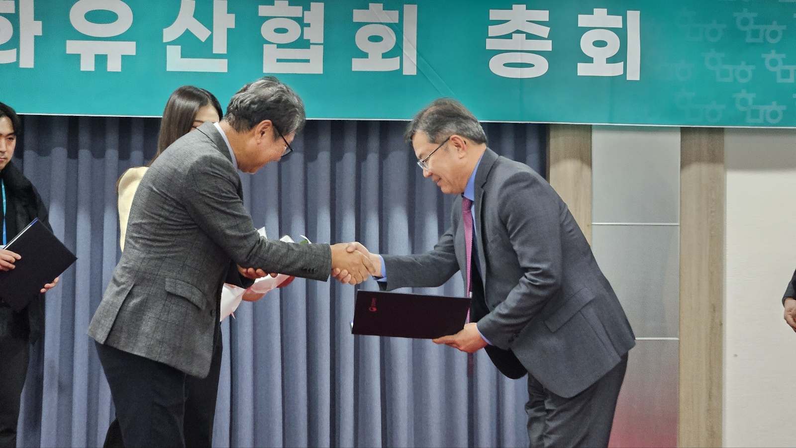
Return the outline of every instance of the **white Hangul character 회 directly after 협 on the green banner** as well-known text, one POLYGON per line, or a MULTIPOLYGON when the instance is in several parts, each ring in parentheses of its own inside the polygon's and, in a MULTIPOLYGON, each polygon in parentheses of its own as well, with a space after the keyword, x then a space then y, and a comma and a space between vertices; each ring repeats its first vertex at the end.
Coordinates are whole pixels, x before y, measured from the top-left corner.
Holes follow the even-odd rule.
POLYGON ((353 10, 353 21, 369 23, 357 30, 357 48, 368 53, 368 57, 351 59, 354 72, 392 72, 401 68, 403 57, 404 75, 417 74, 417 5, 404 5, 402 56, 384 58, 384 53, 395 48, 396 33, 384 23, 400 23, 399 11, 384 10, 383 3, 369 3, 367 10, 353 10), (371 41, 380 37, 380 41, 371 41))

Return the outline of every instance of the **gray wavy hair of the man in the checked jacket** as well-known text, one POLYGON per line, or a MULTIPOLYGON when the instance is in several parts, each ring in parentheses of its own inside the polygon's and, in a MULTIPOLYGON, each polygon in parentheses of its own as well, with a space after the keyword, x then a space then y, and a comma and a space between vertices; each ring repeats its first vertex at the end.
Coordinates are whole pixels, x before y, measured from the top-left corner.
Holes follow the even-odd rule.
POLYGON ((306 122, 301 97, 275 76, 263 76, 240 88, 224 115, 224 121, 238 132, 250 131, 263 120, 271 120, 283 135, 301 131, 306 122))

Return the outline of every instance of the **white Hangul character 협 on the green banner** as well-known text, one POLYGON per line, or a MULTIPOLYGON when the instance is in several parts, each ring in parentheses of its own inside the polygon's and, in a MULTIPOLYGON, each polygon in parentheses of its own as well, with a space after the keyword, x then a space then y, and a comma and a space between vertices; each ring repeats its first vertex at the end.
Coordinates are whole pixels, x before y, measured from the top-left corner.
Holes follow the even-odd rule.
POLYGON ((287 0, 276 0, 273 5, 260 5, 259 16, 269 17, 260 27, 263 39, 263 73, 323 73, 323 3, 310 3, 309 10, 291 6, 287 0), (305 26, 293 18, 301 18, 305 26), (277 33, 277 29, 285 29, 277 33), (280 47, 292 44, 302 37, 309 48, 280 47))

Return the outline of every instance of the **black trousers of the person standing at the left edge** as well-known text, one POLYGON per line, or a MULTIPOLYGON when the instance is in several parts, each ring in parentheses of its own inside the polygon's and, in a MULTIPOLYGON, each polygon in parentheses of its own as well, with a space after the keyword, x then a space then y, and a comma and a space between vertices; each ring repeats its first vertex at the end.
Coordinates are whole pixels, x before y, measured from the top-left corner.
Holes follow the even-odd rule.
POLYGON ((15 337, 0 340, 0 448, 17 446, 19 406, 29 359, 27 340, 15 337))

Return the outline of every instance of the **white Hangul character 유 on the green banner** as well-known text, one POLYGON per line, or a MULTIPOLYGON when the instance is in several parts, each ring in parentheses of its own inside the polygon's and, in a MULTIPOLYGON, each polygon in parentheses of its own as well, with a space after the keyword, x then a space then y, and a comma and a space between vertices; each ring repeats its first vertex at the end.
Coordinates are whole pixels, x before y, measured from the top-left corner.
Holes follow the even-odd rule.
MULTIPOLYGON (((69 10, 69 21, 80 33, 91 37, 116 37, 133 25, 133 11, 122 0, 79 0, 69 10), (116 14, 111 23, 94 23, 86 19, 93 10, 116 14)), ((135 56, 135 41, 66 41, 67 54, 80 55, 80 70, 95 71, 96 56, 107 56, 107 71, 122 71, 122 56, 135 56)))

